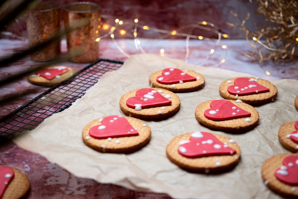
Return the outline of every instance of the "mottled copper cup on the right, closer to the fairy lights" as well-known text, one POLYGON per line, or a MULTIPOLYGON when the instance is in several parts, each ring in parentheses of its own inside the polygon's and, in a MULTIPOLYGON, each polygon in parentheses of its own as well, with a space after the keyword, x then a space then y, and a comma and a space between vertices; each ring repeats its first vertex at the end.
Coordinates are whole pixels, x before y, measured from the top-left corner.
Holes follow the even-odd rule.
POLYGON ((66 34, 68 60, 90 63, 99 58, 100 6, 91 2, 76 2, 63 7, 65 28, 77 27, 66 34), (82 25, 80 25, 82 23, 82 25))

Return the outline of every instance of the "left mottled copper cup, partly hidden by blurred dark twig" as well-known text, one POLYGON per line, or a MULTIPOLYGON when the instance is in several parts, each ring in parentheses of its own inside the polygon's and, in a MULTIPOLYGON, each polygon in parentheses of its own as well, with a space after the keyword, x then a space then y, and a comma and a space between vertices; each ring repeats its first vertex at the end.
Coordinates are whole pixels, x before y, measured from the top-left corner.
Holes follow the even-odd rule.
MULTIPOLYGON (((52 38, 60 32, 61 6, 55 2, 42 2, 26 13, 29 46, 35 46, 52 38)), ((52 61, 61 55, 60 39, 55 40, 41 50, 32 53, 32 61, 52 61)))

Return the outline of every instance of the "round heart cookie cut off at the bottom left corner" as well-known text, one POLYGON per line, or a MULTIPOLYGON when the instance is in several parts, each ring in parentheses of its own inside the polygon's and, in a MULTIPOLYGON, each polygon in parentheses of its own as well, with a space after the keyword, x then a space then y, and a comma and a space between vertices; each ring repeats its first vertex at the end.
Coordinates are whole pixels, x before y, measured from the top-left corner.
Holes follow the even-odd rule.
POLYGON ((19 169, 0 166, 0 198, 14 199, 23 198, 30 190, 28 176, 19 169))

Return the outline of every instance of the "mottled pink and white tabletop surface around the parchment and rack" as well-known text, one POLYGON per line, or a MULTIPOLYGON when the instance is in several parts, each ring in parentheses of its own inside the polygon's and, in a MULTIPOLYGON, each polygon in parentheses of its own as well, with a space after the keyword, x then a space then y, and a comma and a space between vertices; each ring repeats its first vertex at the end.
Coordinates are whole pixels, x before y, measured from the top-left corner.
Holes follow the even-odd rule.
MULTIPOLYGON (((145 53, 162 54, 165 57, 185 60, 189 64, 198 64, 205 67, 221 68, 238 72, 246 72, 260 78, 275 80, 282 78, 298 79, 298 63, 293 62, 263 62, 258 63, 249 60, 235 50, 249 52, 251 49, 244 40, 222 40, 216 46, 214 41, 190 40, 186 45, 184 39, 141 39, 140 46, 145 53), (226 45, 223 49, 221 46, 226 45), (189 56, 187 48, 189 47, 189 56), (214 53, 206 59, 211 49, 214 53), (231 50, 233 49, 233 50, 231 50), (224 63, 221 60, 225 59, 224 63), (221 64, 219 64, 221 63, 221 64), (271 72, 267 75, 266 71, 271 72)), ((118 39, 116 44, 111 40, 101 40, 100 58, 125 61, 130 55, 142 53, 136 49, 134 40, 118 39), (119 46, 123 52, 117 48, 119 46), (128 55, 128 56, 126 56, 128 55)), ((18 51, 26 47, 27 42, 21 40, 0 40, 0 53, 2 56, 18 51)), ((63 56, 66 53, 65 41, 62 41, 63 56)), ((30 61, 29 57, 18 60, 10 65, 1 66, 1 79, 11 77, 19 71, 26 71, 40 63, 30 61)), ((75 64, 64 59, 59 64, 73 67, 76 71, 86 64, 75 64)), ((141 66, 140 66, 141 67, 141 66)), ((37 96, 48 88, 30 84, 27 77, 23 77, 8 85, 0 87, 1 116, 4 117, 15 108, 37 96)), ((24 171, 31 182, 31 190, 28 198, 170 198, 161 193, 147 193, 129 190, 113 184, 103 184, 94 180, 78 178, 59 165, 51 163, 41 155, 26 151, 16 146, 9 140, 0 143, 1 159, 0 165, 13 166, 24 171)))

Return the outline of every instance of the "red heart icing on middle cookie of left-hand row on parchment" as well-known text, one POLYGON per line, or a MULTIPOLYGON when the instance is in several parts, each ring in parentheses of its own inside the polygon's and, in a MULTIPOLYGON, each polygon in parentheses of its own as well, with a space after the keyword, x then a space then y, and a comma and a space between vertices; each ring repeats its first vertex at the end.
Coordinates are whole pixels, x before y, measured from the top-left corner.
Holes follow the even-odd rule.
POLYGON ((126 105, 136 110, 141 110, 143 108, 161 107, 172 104, 172 101, 167 99, 170 97, 170 95, 163 96, 154 89, 143 88, 137 90, 135 97, 128 98, 126 101, 126 105))

